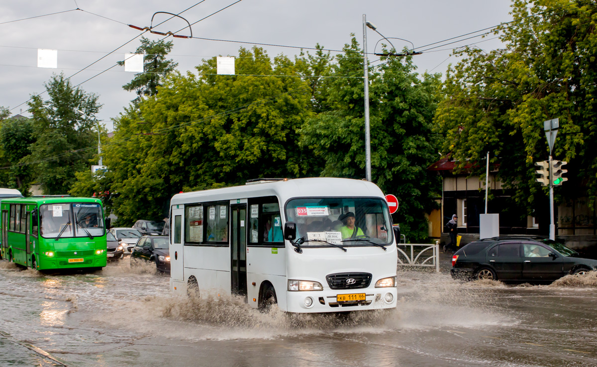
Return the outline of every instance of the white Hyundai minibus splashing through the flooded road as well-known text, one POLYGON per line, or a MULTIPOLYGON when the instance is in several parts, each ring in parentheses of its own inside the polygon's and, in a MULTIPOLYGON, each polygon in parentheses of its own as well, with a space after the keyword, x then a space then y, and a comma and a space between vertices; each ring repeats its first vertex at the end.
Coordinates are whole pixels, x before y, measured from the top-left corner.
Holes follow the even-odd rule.
POLYGON ((294 313, 396 307, 392 221, 368 181, 263 179, 179 193, 170 229, 174 293, 240 295, 294 313))

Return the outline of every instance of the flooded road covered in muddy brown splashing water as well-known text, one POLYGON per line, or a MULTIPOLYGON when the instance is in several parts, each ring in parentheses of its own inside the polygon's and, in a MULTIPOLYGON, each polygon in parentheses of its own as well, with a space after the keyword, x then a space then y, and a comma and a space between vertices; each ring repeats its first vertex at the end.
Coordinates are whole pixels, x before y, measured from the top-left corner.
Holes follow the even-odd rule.
POLYGON ((0 261, 0 365, 597 366, 595 273, 549 286, 398 279, 396 310, 262 314, 174 297, 154 265, 128 259, 87 275, 0 261))

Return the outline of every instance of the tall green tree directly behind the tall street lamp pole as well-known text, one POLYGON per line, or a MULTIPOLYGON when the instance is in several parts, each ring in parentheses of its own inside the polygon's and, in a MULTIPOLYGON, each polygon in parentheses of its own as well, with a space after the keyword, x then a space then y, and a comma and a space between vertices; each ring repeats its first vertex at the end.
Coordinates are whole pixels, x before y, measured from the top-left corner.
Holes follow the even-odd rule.
MULTIPOLYGON (((325 161, 321 175, 365 175, 364 85, 362 51, 353 38, 336 57, 324 106, 306 121, 301 145, 325 161), (344 78, 341 78, 344 77, 344 78)), ((373 182, 398 197, 395 221, 411 240, 427 237, 425 213, 435 207, 438 180, 426 172, 436 158, 431 122, 437 104, 439 75, 420 79, 410 58, 385 58, 371 73, 370 133, 373 182)))

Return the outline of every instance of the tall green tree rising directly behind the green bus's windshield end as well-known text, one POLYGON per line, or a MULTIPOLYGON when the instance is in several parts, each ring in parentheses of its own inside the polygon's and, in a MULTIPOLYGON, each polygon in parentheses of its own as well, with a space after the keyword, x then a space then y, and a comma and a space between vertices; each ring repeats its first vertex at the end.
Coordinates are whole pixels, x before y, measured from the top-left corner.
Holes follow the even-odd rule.
POLYGON ((94 116, 101 105, 97 95, 73 87, 62 74, 54 75, 45 87, 49 100, 33 95, 29 102, 36 141, 26 161, 33 165, 43 192, 57 195, 69 192, 75 172, 90 169, 97 144, 94 116))

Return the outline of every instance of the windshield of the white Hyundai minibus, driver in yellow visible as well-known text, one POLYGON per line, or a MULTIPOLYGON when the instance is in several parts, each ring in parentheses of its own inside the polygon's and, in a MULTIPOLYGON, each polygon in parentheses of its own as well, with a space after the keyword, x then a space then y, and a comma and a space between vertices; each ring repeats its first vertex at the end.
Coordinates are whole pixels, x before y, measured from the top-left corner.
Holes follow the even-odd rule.
POLYGON ((297 239, 306 240, 304 246, 392 243, 390 214, 380 198, 293 199, 286 206, 286 217, 297 224, 297 239))

